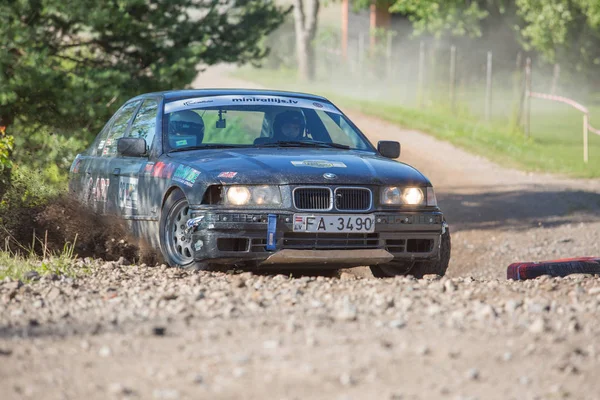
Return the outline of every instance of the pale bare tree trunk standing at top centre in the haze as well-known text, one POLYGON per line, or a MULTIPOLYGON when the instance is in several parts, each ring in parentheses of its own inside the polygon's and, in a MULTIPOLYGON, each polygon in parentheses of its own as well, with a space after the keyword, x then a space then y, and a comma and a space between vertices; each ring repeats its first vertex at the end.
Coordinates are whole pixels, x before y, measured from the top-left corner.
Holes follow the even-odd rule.
POLYGON ((303 80, 315 78, 315 35, 317 34, 317 15, 319 0, 308 0, 305 9, 304 0, 294 0, 294 26, 296 28, 296 56, 298 73, 303 80))

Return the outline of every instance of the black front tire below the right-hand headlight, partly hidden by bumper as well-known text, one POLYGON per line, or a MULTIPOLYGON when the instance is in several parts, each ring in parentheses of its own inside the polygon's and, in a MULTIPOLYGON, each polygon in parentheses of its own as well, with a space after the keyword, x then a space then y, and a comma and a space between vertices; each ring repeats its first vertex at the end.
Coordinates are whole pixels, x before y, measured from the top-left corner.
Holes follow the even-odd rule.
MULTIPOLYGON (((444 224, 446 221, 444 220, 444 224)), ((386 264, 374 265, 371 268, 373 276, 376 278, 389 278, 397 275, 412 275, 417 279, 425 275, 444 276, 450 262, 450 253, 452 242, 450 240, 450 228, 446 225, 446 230, 442 234, 440 243, 440 255, 437 259, 431 261, 402 262, 392 261, 386 264)))

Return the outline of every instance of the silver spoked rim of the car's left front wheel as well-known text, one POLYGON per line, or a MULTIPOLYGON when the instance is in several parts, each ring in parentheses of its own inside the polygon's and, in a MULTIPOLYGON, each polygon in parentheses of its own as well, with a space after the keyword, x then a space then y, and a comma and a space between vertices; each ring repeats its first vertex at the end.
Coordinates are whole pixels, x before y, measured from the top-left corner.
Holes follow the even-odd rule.
POLYGON ((190 218, 190 208, 186 199, 177 201, 167 215, 165 242, 169 258, 175 264, 186 265, 194 261, 192 234, 186 231, 190 218))

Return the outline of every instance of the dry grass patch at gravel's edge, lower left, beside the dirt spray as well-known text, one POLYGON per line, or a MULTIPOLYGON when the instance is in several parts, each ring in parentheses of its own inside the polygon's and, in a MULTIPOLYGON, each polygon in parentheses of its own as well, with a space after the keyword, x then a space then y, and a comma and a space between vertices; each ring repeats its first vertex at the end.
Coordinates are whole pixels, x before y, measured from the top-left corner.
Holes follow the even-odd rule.
POLYGON ((11 278, 28 282, 31 279, 27 279, 25 275, 30 271, 35 271, 40 276, 55 274, 75 277, 85 274, 88 271, 84 267, 75 265, 77 255, 74 254, 74 249, 75 243, 67 243, 60 253, 44 252, 38 256, 25 247, 21 248, 22 251, 15 252, 5 246, 4 250, 0 250, 0 280, 11 278))

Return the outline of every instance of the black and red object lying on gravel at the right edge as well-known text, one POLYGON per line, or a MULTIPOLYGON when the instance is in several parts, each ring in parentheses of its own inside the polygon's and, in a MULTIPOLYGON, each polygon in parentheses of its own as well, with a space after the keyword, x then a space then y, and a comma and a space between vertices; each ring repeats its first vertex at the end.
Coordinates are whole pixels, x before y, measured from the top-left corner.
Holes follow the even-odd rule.
POLYGON ((516 281, 534 279, 542 275, 567 276, 570 274, 600 274, 600 258, 577 257, 550 261, 519 262, 510 264, 506 270, 506 278, 516 281))

